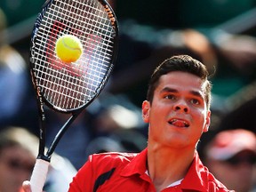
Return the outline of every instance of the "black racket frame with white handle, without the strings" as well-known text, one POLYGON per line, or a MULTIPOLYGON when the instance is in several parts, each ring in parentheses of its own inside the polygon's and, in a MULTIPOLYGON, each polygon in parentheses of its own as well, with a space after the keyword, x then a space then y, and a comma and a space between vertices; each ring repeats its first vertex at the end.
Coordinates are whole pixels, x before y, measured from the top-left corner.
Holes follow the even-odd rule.
MULTIPOLYGON (((46 175, 48 172, 48 167, 51 162, 51 156, 54 152, 55 148, 57 147, 60 139, 64 135, 64 133, 68 130, 68 127, 70 124, 74 122, 77 116, 86 108, 89 106, 93 100, 95 100, 100 92, 103 90, 103 88, 106 86, 108 82, 108 78, 111 75, 114 63, 116 62, 117 57, 117 50, 118 50, 118 23, 116 20, 115 12, 112 10, 111 6, 108 4, 105 0, 95 0, 98 1, 105 9, 105 11, 108 13, 108 19, 111 22, 111 26, 115 29, 115 34, 113 36, 113 44, 115 45, 113 47, 112 51, 112 57, 109 61, 109 67, 108 67, 108 73, 104 76, 104 80, 98 87, 98 92, 93 95, 92 99, 86 102, 83 106, 76 108, 76 109, 60 109, 53 106, 48 100, 46 100, 43 96, 42 87, 39 85, 38 80, 36 78, 36 71, 34 68, 34 65, 36 63, 36 59, 34 57, 34 48, 36 47, 36 35, 37 30, 41 25, 41 22, 44 18, 44 13, 47 12, 49 6, 56 0, 47 0, 43 7, 42 11, 38 13, 38 16, 36 18, 34 28, 32 30, 31 35, 31 42, 30 42, 30 55, 29 55, 29 64, 30 64, 30 76, 32 77, 32 83, 34 85, 34 89, 36 92, 36 104, 38 108, 38 115, 39 115, 39 147, 38 147, 38 156, 36 157, 36 164, 34 167, 34 171, 31 176, 31 189, 33 192, 41 192, 44 187, 44 182, 46 180, 46 175), (45 137, 46 137, 46 116, 44 111, 44 105, 48 108, 51 108, 52 110, 64 114, 71 114, 71 116, 68 118, 68 121, 63 124, 63 126, 60 128, 60 131, 57 133, 54 140, 52 140, 52 144, 50 148, 47 150, 45 154, 45 137)), ((67 0, 66 0, 67 1, 67 0)), ((70 0, 71 1, 71 0, 70 0)))

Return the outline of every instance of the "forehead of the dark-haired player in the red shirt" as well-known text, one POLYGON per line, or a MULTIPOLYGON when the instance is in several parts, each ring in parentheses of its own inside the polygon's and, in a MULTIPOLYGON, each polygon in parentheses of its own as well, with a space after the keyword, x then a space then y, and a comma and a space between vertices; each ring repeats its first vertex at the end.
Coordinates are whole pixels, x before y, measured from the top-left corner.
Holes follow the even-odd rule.
POLYGON ((158 89, 164 89, 164 87, 172 87, 173 89, 180 91, 197 91, 204 92, 205 82, 198 76, 190 74, 188 72, 173 71, 159 79, 158 89))

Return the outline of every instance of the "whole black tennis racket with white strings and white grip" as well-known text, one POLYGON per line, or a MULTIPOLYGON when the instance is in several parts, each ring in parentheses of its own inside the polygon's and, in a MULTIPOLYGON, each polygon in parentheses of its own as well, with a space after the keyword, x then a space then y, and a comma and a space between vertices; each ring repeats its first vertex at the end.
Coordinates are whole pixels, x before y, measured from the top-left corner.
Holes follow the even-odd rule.
POLYGON ((30 74, 40 123, 32 192, 42 192, 61 137, 107 84, 116 60, 117 36, 116 15, 105 0, 48 0, 38 14, 30 45, 30 74), (75 62, 65 63, 56 56, 55 43, 63 35, 76 36, 83 44, 84 51, 75 62), (45 106, 70 114, 48 150, 44 149, 45 106))

